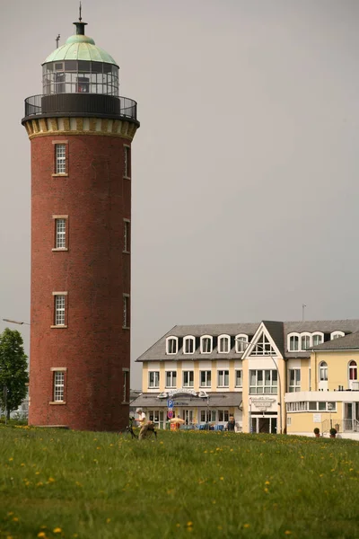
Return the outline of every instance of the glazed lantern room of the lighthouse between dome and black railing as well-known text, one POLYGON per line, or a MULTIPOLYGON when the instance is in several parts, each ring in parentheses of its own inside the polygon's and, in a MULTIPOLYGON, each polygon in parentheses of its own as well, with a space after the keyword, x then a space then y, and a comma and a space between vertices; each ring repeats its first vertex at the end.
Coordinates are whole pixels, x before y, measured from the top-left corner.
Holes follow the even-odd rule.
POLYGON ((105 62, 61 60, 42 66, 43 93, 118 95, 118 66, 105 62))

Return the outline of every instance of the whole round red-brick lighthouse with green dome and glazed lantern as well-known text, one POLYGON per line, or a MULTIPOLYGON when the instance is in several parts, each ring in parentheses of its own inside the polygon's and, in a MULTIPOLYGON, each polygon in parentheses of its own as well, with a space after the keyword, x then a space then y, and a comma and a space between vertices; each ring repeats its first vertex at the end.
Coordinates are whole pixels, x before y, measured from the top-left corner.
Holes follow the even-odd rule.
POLYGON ((31 425, 127 425, 131 142, 118 65, 76 31, 25 100, 31 140, 31 425))

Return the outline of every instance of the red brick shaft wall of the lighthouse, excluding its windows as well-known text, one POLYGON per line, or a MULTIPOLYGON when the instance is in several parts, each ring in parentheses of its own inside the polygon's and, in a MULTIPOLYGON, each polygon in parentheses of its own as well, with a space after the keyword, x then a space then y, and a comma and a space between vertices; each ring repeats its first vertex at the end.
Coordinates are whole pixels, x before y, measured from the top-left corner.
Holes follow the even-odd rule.
POLYGON ((123 367, 130 331, 122 328, 130 291, 123 218, 131 216, 123 179, 128 141, 94 135, 31 140, 31 425, 118 430, 127 425, 123 367), (68 141, 68 177, 53 177, 53 140, 68 141), (53 252, 53 215, 68 215, 68 251, 53 252), (67 291, 66 329, 54 324, 54 291, 67 291), (51 367, 66 367, 66 404, 53 401, 51 367))

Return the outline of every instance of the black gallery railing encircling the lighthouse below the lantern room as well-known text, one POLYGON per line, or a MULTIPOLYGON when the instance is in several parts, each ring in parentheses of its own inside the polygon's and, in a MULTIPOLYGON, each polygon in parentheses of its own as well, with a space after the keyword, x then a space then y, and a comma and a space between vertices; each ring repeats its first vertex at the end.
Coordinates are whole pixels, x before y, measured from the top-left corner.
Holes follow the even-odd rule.
POLYGON ((92 116, 137 121, 137 103, 128 97, 101 93, 51 93, 25 99, 25 116, 92 116))

